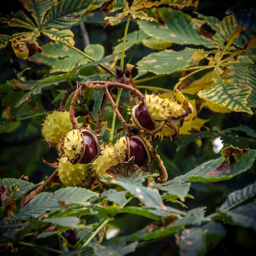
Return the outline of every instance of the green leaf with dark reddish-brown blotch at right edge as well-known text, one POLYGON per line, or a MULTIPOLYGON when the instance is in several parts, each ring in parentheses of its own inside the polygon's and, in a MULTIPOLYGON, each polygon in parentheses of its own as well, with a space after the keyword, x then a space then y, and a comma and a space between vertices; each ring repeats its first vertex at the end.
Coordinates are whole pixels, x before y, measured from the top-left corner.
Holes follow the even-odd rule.
POLYGON ((218 182, 229 180, 251 168, 256 158, 256 150, 243 151, 233 146, 223 148, 221 154, 222 157, 204 162, 185 175, 175 177, 172 181, 218 182))

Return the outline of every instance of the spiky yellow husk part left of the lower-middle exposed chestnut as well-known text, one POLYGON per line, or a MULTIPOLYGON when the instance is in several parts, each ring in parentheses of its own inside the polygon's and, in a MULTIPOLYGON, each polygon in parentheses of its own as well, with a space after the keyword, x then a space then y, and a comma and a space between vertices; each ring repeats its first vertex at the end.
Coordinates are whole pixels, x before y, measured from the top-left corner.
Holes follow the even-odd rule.
POLYGON ((118 163, 114 157, 114 146, 112 144, 106 145, 101 150, 101 155, 92 162, 92 169, 99 176, 106 174, 106 170, 118 163))

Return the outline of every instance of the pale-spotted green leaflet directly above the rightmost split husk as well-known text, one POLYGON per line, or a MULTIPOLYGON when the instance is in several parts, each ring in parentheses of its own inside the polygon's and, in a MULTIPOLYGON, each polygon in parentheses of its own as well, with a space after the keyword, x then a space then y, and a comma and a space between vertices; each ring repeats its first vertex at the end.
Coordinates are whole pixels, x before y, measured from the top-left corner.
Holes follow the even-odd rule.
POLYGON ((195 64, 195 60, 191 57, 196 51, 197 49, 185 48, 178 52, 173 50, 153 52, 137 62, 138 75, 136 78, 147 72, 153 72, 157 75, 171 74, 185 67, 190 67, 195 64))

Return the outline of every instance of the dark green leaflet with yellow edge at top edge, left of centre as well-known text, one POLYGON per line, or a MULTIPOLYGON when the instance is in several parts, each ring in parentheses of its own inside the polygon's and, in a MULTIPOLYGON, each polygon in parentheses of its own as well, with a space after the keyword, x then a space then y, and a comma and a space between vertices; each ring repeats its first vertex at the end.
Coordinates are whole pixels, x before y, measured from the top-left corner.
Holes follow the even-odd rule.
POLYGON ((55 4, 49 10, 45 20, 42 23, 42 28, 56 27, 64 29, 75 25, 81 16, 88 11, 93 11, 100 8, 106 2, 104 0, 62 0, 55 4))

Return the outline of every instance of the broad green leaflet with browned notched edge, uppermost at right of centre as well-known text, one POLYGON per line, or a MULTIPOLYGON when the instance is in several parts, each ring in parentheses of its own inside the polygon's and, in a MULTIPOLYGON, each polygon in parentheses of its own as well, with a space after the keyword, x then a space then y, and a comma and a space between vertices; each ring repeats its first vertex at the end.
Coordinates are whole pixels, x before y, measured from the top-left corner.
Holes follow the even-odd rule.
POLYGON ((177 43, 180 45, 204 45, 204 47, 214 48, 215 46, 209 39, 199 34, 202 27, 202 21, 192 18, 188 14, 179 10, 170 8, 160 8, 163 16, 163 22, 147 22, 138 21, 139 28, 148 36, 152 36, 159 40, 165 40, 169 43, 177 43))

